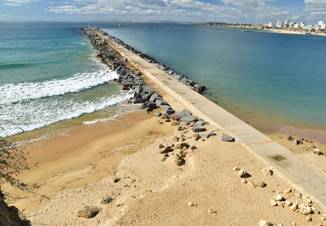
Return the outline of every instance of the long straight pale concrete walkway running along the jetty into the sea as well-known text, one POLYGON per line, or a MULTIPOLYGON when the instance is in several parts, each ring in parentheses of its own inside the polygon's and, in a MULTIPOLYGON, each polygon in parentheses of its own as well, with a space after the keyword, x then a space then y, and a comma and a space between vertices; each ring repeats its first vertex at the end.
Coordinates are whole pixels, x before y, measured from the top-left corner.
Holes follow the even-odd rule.
MULTIPOLYGON (((258 159, 271 165, 275 174, 287 180, 293 188, 306 193, 326 211, 326 173, 300 160, 291 151, 249 126, 230 112, 190 89, 169 74, 158 69, 113 40, 92 31, 157 86, 187 107, 193 114, 217 125, 233 136, 258 159)), ((218 164, 218 162, 216 163, 218 164)))

